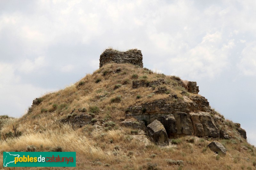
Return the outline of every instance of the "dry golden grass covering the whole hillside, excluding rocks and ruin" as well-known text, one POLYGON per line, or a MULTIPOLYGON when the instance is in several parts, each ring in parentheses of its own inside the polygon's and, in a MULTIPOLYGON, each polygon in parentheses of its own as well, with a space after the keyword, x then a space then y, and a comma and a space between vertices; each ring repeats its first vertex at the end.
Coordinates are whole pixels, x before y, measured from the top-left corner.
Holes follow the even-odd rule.
POLYGON ((144 131, 121 125, 127 120, 127 107, 166 99, 169 94, 185 100, 180 92, 186 90, 177 80, 132 64, 106 64, 74 85, 41 96, 21 118, 0 117, 1 166, 5 151, 62 150, 77 152, 77 169, 255 169, 256 149, 229 120, 225 129, 231 132, 230 140, 179 136, 168 146, 158 146, 144 131), (166 93, 154 94, 154 87, 132 88, 132 81, 156 79, 164 79, 166 93), (81 128, 61 123, 82 113, 92 116, 92 123, 81 128), (225 146, 226 155, 206 147, 213 140, 225 146))

